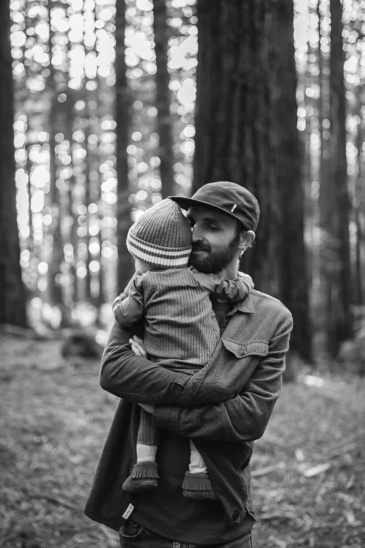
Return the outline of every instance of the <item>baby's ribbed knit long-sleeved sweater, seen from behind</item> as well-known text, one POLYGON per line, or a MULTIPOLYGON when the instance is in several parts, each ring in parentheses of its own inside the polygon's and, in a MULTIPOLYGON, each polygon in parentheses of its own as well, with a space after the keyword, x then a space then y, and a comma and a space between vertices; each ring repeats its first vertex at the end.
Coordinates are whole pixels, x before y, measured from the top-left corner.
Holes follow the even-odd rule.
POLYGON ((123 326, 143 316, 143 342, 152 361, 196 370, 209 361, 220 337, 210 293, 234 302, 252 286, 250 276, 226 281, 191 268, 149 271, 134 277, 129 293, 115 299, 113 311, 123 326))

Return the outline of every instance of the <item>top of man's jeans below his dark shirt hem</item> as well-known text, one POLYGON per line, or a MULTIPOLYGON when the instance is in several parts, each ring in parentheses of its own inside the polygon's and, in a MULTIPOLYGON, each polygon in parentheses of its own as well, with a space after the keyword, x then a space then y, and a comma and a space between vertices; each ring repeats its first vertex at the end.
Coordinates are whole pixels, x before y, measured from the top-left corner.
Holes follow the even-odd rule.
MULTIPOLYGON (((180 543, 165 539, 164 536, 148 531, 138 523, 126 521, 119 529, 121 548, 209 548, 207 545, 180 543)), ((253 548, 251 531, 240 539, 225 544, 215 544, 215 548, 253 548)))

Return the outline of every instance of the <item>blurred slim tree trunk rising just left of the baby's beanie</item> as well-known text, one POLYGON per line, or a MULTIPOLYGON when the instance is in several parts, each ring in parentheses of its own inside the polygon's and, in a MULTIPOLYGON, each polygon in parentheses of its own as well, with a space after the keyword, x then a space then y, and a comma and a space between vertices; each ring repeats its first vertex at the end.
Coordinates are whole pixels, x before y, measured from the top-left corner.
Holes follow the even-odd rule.
POLYGON ((130 121, 130 98, 126 79, 125 64, 125 2, 121 0, 116 4, 115 12, 115 119, 117 121, 117 178, 118 178, 118 202, 117 202, 117 247, 118 270, 117 290, 121 292, 129 281, 133 265, 132 259, 125 242, 130 220, 129 184, 128 184, 128 154, 130 121))

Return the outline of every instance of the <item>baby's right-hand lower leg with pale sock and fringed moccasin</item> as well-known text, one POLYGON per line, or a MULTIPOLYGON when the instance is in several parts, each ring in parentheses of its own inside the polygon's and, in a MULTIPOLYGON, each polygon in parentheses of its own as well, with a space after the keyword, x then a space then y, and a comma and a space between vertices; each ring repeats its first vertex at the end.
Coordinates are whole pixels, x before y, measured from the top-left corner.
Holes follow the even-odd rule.
POLYGON ((204 459, 191 439, 189 472, 185 473, 182 488, 183 495, 190 499, 217 500, 204 459))

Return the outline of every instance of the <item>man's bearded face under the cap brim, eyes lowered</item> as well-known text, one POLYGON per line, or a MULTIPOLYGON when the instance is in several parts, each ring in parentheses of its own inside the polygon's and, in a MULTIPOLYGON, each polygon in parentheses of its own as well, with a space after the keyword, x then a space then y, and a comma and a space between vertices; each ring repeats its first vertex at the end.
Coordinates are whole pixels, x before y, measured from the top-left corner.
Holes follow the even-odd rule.
POLYGON ((206 274, 217 274, 240 250, 238 221, 212 209, 191 207, 187 215, 193 227, 193 250, 189 264, 206 274))

